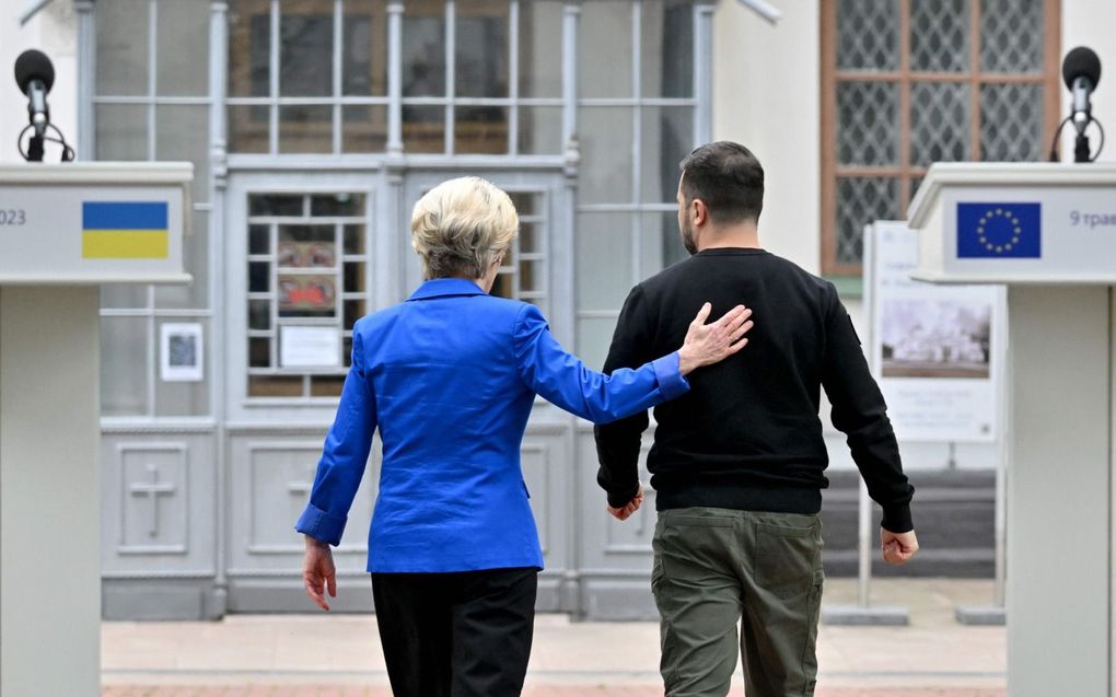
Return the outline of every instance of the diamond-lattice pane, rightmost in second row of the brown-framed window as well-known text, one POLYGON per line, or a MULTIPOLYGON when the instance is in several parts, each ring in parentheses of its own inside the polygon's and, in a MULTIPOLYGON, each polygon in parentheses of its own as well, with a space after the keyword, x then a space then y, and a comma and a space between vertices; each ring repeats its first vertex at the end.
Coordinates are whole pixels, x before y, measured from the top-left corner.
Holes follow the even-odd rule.
POLYGON ((982 85, 980 157, 1037 162, 1042 157, 1041 85, 982 85))

